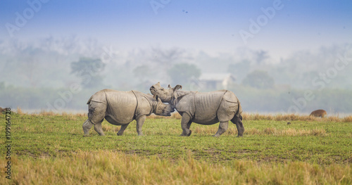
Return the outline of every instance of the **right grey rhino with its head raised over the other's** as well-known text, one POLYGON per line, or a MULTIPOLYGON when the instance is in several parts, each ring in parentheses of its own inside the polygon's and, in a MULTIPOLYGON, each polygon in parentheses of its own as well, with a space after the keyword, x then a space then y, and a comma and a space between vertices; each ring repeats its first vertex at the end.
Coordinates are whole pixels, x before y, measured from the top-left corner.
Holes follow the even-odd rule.
POLYGON ((236 124, 238 136, 243 136, 242 108, 239 99, 232 91, 220 90, 201 93, 198 91, 181 91, 182 86, 164 89, 160 82, 151 86, 150 91, 161 101, 174 106, 182 115, 181 136, 190 136, 192 122, 201 125, 213 125, 220 122, 218 132, 214 136, 220 136, 227 130, 228 121, 236 124))

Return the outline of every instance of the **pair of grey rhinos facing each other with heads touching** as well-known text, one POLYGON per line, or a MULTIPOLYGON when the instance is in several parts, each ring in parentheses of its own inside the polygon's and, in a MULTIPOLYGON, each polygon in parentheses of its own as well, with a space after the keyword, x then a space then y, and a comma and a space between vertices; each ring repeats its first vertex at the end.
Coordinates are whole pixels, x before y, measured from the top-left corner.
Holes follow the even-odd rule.
POLYGON ((242 108, 237 96, 232 91, 220 90, 208 93, 197 91, 181 91, 182 86, 163 89, 160 83, 151 87, 151 94, 139 91, 115 91, 103 89, 96 92, 87 104, 89 105, 88 119, 83 123, 84 136, 94 126, 96 132, 103 136, 101 122, 103 119, 113 125, 121 125, 118 135, 122 135, 126 127, 137 121, 137 133, 142 134, 142 126, 147 115, 170 116, 174 108, 182 115, 181 136, 190 136, 189 129, 192 122, 201 125, 213 125, 220 122, 218 132, 220 136, 231 121, 237 126, 238 136, 243 136, 242 108), (164 104, 168 103, 168 104, 164 104))

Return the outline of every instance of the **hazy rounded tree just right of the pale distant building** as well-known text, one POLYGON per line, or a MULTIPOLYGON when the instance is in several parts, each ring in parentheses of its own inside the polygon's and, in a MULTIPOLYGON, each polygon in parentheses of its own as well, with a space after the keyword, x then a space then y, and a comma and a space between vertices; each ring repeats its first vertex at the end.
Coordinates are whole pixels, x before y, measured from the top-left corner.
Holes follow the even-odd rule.
POLYGON ((268 89, 274 87, 274 79, 266 71, 255 70, 246 75, 242 84, 258 89, 268 89))

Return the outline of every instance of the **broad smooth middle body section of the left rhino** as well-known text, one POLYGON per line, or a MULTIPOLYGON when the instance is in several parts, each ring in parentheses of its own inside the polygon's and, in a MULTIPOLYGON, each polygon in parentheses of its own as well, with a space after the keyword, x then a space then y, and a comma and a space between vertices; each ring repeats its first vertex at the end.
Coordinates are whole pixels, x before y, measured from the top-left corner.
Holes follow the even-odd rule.
POLYGON ((132 122, 137 107, 137 98, 133 92, 111 89, 106 89, 104 92, 108 103, 106 117, 110 118, 109 122, 115 125, 132 122))

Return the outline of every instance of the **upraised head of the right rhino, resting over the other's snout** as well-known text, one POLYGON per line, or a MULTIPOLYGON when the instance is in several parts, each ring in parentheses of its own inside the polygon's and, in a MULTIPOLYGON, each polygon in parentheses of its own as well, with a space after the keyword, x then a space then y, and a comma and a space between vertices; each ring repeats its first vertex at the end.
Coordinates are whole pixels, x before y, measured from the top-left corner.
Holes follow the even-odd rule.
POLYGON ((169 84, 168 89, 164 89, 163 87, 161 87, 160 82, 158 82, 157 84, 152 85, 149 90, 151 91, 151 94, 161 98, 161 101, 172 103, 171 101, 172 101, 172 98, 174 97, 174 91, 178 89, 182 89, 182 86, 177 85, 171 88, 169 84))

